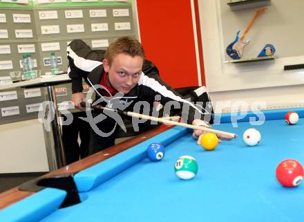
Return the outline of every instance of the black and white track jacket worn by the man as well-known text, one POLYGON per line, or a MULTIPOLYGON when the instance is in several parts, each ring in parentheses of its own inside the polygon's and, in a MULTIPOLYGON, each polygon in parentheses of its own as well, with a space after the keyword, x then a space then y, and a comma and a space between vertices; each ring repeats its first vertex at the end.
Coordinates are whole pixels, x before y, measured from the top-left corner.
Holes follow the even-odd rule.
MULTIPOLYGON (((82 78, 90 86, 99 84, 104 73, 104 66, 102 65, 104 53, 105 50, 92 50, 90 46, 79 39, 70 42, 67 47, 68 75, 72 79, 73 91, 82 91, 82 78)), ((169 106, 174 101, 180 104, 180 107, 177 109, 171 106, 171 112, 167 113, 168 115, 182 112, 182 117, 184 120, 187 119, 189 124, 192 123, 195 112, 201 113, 201 118, 203 118, 204 111, 193 103, 184 100, 171 86, 164 83, 159 77, 158 68, 152 62, 145 60, 138 84, 128 94, 120 97, 119 100, 124 104, 126 102, 130 103, 129 107, 125 110, 133 111, 136 102, 139 101, 149 102, 151 107, 153 107, 155 95, 157 95, 156 100, 162 106, 169 106), (184 109, 182 109, 183 107, 184 109)))

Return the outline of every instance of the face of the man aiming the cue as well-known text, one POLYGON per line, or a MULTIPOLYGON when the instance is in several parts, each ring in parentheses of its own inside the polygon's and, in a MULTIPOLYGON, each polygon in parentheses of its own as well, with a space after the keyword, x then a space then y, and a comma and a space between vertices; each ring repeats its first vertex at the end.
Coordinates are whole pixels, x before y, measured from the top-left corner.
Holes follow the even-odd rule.
POLYGON ((111 85, 121 93, 129 93, 140 80, 144 61, 139 55, 131 57, 124 53, 117 54, 113 57, 111 66, 107 59, 102 62, 111 85))

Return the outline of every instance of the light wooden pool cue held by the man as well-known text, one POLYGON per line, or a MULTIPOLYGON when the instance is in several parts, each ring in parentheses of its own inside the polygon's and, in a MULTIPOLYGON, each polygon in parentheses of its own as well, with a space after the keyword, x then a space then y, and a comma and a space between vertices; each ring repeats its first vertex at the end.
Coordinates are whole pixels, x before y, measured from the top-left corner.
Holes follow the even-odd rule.
MULTIPOLYGON (((81 102, 80 105, 82 107, 86 107, 85 102, 81 102)), ((108 108, 108 107, 102 107, 100 105, 91 105, 90 104, 90 108, 91 109, 98 109, 98 110, 113 111, 113 112, 117 112, 119 114, 128 115, 128 116, 135 117, 135 118, 142 118, 144 120, 152 120, 152 121, 156 121, 156 122, 173 124, 173 125, 180 126, 180 127, 186 127, 186 128, 190 128, 190 129, 198 129, 198 130, 206 131, 206 132, 209 132, 209 133, 216 133, 216 134, 220 134, 220 135, 223 135, 223 136, 229 136, 231 138, 237 138, 236 133, 229 133, 229 132, 226 132, 226 131, 211 129, 211 128, 208 128, 208 127, 195 126, 193 124, 187 124, 187 123, 184 123, 184 122, 175 122, 175 121, 167 120, 167 119, 164 119, 164 118, 157 118, 157 117, 154 117, 154 116, 151 116, 151 115, 144 115, 144 114, 140 114, 140 113, 134 113, 134 112, 131 112, 131 111, 120 111, 120 110, 115 110, 115 109, 111 109, 111 108, 108 108)))

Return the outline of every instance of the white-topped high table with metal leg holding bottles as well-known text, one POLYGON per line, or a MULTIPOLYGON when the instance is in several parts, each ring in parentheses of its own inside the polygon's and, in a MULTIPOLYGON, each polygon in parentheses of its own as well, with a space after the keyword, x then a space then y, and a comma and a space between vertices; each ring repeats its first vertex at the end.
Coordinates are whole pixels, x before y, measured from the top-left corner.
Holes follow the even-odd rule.
MULTIPOLYGON (((55 95, 54 86, 57 84, 62 84, 64 82, 70 82, 70 77, 68 74, 55 75, 55 76, 45 76, 35 80, 26 80, 22 82, 15 82, 12 84, 3 84, 0 85, 0 90, 6 89, 15 89, 15 88, 29 88, 29 87, 42 87, 46 86, 48 91, 48 101, 50 101, 50 114, 54 116, 54 119, 51 122, 51 127, 53 131, 53 139, 54 139, 54 151, 55 151, 55 165, 52 167, 53 169, 57 169, 60 167, 64 167, 66 165, 66 158, 64 155, 64 147, 62 144, 61 137, 61 128, 58 122, 58 111, 57 111, 57 101, 55 95)), ((48 112, 46 112, 48 113, 48 112)))

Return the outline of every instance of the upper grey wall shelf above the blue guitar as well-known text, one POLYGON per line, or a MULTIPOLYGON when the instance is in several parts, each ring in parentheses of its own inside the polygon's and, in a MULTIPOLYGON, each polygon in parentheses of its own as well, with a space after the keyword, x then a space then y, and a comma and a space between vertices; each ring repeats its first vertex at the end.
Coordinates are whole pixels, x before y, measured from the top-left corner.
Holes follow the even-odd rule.
POLYGON ((230 6, 231 10, 235 11, 270 6, 272 2, 271 0, 227 0, 227 4, 230 6))

